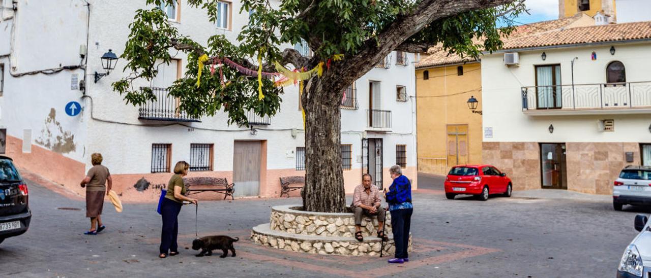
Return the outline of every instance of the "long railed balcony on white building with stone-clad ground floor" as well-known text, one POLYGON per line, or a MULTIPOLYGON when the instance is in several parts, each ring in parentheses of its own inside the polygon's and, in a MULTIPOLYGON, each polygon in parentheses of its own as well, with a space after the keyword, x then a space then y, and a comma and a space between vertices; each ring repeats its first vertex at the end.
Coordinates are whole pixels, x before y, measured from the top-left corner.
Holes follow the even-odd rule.
POLYGON ((521 88, 525 114, 651 114, 651 81, 521 88))

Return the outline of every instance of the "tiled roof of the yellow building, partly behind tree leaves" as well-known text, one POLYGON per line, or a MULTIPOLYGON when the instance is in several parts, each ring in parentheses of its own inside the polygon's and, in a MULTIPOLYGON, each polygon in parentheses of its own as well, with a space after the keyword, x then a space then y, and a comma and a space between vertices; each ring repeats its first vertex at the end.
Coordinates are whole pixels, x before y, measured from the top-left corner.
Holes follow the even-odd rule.
MULTIPOLYGON (((558 30, 563 27, 575 27, 575 26, 586 26, 594 25, 594 19, 590 18, 585 14, 577 14, 570 18, 561 18, 556 20, 541 21, 536 23, 531 23, 528 25, 521 25, 516 28, 515 31, 511 33, 508 39, 505 39, 505 44, 508 40, 514 38, 523 38, 531 36, 532 34, 538 34, 540 32, 547 32, 558 30)), ((477 40, 475 43, 481 44, 480 40, 477 40)), ((416 64, 416 68, 427 68, 431 66, 442 66, 449 64, 459 64, 462 62, 470 62, 475 59, 471 57, 460 57, 459 55, 453 54, 448 55, 447 51, 443 50, 441 45, 435 45, 431 47, 427 53, 428 57, 423 58, 420 62, 416 64)))

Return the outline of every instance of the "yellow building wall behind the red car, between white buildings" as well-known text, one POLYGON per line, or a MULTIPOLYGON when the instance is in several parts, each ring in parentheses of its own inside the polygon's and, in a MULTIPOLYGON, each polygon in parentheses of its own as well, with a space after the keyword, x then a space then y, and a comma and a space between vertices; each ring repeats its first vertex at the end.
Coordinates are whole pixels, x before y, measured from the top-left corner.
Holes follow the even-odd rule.
POLYGON ((479 62, 417 64, 419 171, 445 175, 454 165, 482 162, 481 86, 479 62), (470 97, 478 100, 475 113, 468 108, 470 97))

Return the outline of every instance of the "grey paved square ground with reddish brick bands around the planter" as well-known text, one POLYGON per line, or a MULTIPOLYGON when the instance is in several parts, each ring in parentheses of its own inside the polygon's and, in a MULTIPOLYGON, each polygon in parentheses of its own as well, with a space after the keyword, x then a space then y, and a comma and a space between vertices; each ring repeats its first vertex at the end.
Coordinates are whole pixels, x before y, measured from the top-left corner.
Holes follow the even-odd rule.
MULTIPOLYGON (((410 262, 280 251, 249 240, 251 227, 267 223, 274 205, 298 198, 206 201, 199 205, 199 235, 239 236, 237 257, 194 257, 195 210, 183 208, 181 254, 158 259, 156 204, 104 208, 107 230, 85 236, 83 201, 29 183, 29 231, 0 244, 5 277, 613 277, 630 240, 636 213, 615 212, 608 196, 561 190, 514 192, 514 197, 447 200, 440 178, 419 176, 414 194, 410 262), (64 209, 61 209, 64 208, 64 209), (66 208, 72 208, 66 209, 66 208)), ((350 197, 349 197, 350 198, 350 197)))

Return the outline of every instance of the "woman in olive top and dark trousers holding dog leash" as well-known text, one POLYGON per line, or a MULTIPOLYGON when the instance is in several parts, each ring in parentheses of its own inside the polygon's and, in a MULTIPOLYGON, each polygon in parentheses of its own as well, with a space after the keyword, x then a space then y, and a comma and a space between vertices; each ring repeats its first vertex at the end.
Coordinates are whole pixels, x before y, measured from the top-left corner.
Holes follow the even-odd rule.
POLYGON ((176 162, 174 166, 174 175, 167 183, 167 194, 161 202, 161 215, 163 216, 163 229, 161 231, 161 246, 159 258, 167 258, 167 252, 170 256, 178 255, 178 213, 181 212, 183 201, 189 201, 197 205, 197 199, 188 198, 186 194, 186 185, 183 183, 183 177, 187 175, 190 164, 185 161, 176 162))

